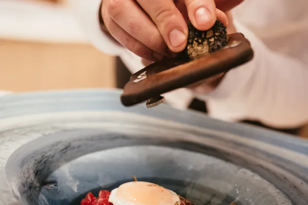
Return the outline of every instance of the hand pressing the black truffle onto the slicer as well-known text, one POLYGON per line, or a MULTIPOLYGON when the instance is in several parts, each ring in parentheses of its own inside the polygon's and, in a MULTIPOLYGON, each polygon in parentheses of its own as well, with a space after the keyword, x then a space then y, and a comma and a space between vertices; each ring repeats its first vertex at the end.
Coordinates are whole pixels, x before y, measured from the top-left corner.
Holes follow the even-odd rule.
POLYGON ((185 48, 188 20, 199 30, 211 28, 216 19, 228 24, 214 0, 103 0, 101 13, 115 40, 153 62, 185 48))

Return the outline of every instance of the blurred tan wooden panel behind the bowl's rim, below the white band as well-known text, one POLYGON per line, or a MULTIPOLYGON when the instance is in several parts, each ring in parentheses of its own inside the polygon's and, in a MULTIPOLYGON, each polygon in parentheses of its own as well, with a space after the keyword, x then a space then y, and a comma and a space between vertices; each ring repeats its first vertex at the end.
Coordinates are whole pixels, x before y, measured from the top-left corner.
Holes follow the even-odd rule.
POLYGON ((89 44, 0 40, 0 90, 115 87, 114 66, 89 44))

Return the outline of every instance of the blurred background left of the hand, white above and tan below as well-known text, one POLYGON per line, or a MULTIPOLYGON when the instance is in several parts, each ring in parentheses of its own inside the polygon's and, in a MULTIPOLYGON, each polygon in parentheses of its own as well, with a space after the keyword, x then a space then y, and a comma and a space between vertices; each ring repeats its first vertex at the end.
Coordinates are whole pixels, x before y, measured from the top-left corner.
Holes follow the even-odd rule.
POLYGON ((89 44, 64 1, 0 0, 0 90, 115 86, 115 58, 89 44))

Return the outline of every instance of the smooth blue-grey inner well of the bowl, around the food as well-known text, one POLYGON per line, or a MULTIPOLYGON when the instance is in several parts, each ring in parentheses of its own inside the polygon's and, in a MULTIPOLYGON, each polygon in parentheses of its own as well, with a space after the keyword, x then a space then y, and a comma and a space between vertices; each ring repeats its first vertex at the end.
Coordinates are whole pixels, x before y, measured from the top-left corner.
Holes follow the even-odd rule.
POLYGON ((39 197, 49 205, 80 205, 91 191, 132 181, 160 184, 196 205, 291 204, 275 186, 237 165, 167 146, 127 146, 94 152, 64 164, 47 179, 39 197), (48 184, 48 183, 47 183, 48 184))

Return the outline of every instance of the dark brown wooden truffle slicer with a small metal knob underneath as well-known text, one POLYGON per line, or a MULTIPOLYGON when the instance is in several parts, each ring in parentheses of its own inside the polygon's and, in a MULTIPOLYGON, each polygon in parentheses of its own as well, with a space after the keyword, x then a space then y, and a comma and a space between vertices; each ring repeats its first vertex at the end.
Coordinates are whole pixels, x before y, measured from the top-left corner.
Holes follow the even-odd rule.
POLYGON ((162 94, 227 72, 252 58, 253 50, 244 35, 229 34, 222 49, 202 58, 168 58, 134 73, 124 87, 121 102, 132 106, 147 101, 148 108, 157 106, 165 101, 162 94))

